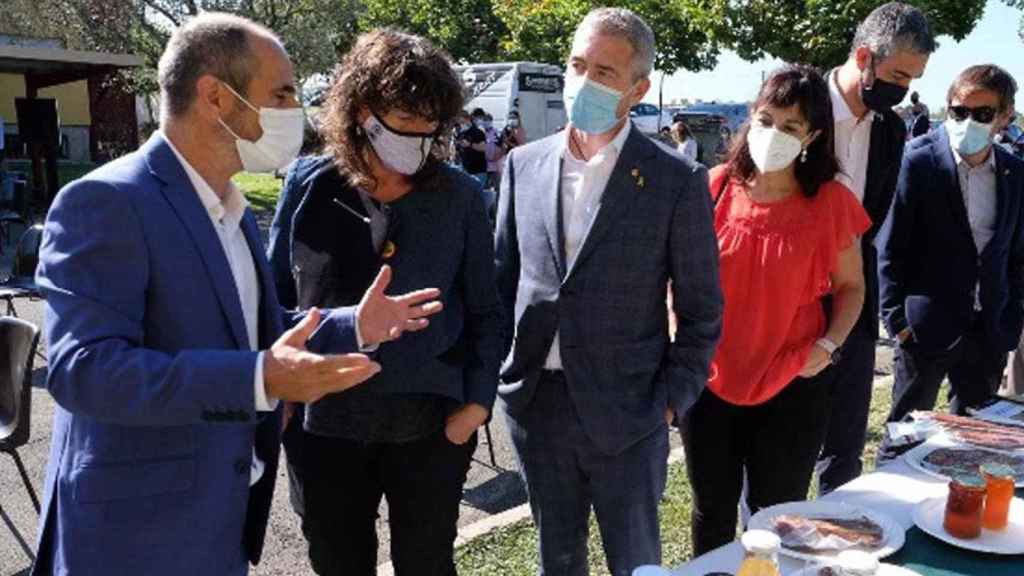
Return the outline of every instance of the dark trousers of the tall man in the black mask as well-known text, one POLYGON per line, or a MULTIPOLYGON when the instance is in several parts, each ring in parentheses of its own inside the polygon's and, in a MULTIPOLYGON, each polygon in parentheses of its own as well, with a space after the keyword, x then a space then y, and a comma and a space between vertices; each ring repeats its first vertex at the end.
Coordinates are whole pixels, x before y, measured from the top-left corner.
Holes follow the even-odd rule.
POLYGON ((839 365, 823 374, 831 387, 831 413, 818 458, 818 493, 825 495, 860 476, 874 381, 873 334, 858 323, 843 344, 839 365))

